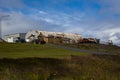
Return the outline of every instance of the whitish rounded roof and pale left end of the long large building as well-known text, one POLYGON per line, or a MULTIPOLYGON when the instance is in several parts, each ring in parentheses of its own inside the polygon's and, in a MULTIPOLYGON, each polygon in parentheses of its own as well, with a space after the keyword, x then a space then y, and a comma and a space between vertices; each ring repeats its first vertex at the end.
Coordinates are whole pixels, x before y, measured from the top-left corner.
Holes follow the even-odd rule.
POLYGON ((37 39, 40 34, 42 34, 44 37, 53 36, 53 37, 68 38, 68 39, 74 40, 76 43, 79 39, 82 38, 81 35, 75 34, 75 33, 48 32, 48 31, 32 30, 26 34, 25 40, 26 40, 26 42, 31 42, 34 39, 37 39))

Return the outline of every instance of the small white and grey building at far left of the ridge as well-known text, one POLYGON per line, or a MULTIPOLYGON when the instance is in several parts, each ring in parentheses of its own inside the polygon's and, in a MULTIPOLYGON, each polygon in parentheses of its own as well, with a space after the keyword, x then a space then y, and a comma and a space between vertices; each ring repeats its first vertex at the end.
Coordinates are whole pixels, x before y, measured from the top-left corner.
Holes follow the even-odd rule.
POLYGON ((25 42, 26 33, 16 33, 4 36, 4 40, 9 43, 25 42))

